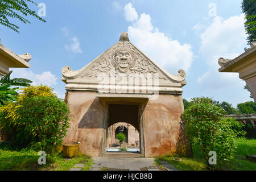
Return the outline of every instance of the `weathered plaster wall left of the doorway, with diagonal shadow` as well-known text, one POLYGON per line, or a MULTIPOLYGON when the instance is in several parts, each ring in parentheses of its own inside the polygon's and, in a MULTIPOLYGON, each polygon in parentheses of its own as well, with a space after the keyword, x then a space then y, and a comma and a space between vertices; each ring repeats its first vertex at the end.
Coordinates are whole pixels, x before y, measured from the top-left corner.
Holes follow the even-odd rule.
POLYGON ((71 125, 64 142, 81 142, 80 150, 99 156, 104 138, 104 107, 94 92, 68 91, 66 102, 71 110, 71 125))

